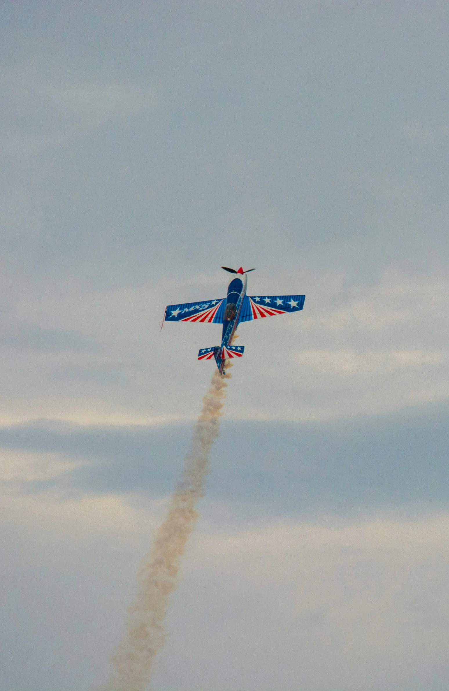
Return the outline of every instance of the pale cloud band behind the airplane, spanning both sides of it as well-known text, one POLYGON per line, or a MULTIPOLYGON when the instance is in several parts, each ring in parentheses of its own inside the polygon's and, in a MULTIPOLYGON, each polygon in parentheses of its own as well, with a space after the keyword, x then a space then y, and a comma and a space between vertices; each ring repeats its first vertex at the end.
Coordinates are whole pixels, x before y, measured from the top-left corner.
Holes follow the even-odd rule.
MULTIPOLYGON (((272 293, 276 280, 263 282, 272 293)), ((7 278, 3 285, 8 294, 7 278)), ((150 278, 104 291, 86 290, 75 278, 57 287, 43 283, 39 291, 18 287, 3 316, 3 424, 33 417, 101 424, 194 419, 197 411, 180 390, 200 401, 211 367, 195 355, 219 339, 220 327, 167 324, 160 332, 162 300, 220 297, 224 290, 214 276, 194 284, 169 278, 159 286, 150 278)), ((242 324, 245 357, 233 371, 227 416, 351 417, 448 397, 447 291, 442 279, 391 274, 350 294, 312 285, 303 312, 242 324), (267 388, 269 397, 261 394, 267 388)))

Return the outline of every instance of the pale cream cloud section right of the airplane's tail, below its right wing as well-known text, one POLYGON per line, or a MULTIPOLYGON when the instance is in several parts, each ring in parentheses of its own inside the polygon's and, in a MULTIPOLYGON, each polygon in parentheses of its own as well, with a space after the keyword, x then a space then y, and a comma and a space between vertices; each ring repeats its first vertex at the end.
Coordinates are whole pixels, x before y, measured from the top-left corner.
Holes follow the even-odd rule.
POLYGON ((258 392, 245 417, 349 418, 448 397, 446 280, 384 274, 347 289, 309 271, 304 283, 303 312, 240 327, 243 386, 258 392))

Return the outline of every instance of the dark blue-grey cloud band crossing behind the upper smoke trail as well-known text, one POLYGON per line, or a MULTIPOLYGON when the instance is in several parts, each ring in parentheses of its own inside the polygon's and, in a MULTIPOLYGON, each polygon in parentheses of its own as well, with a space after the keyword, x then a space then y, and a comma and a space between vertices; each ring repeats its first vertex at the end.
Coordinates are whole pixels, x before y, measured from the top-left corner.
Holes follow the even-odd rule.
MULTIPOLYGON (((447 407, 439 403, 345 423, 225 420, 204 501, 217 525, 251 524, 264 516, 443 509, 447 407)), ((6 460, 11 450, 10 467, 17 459, 21 463, 22 475, 15 475, 13 487, 17 495, 113 493, 162 500, 178 480, 190 435, 187 424, 86 426, 42 420, 1 428, 0 448, 6 460), (57 472, 46 476, 45 468, 55 463, 57 472), (41 476, 33 475, 39 468, 44 468, 41 476)), ((12 491, 11 484, 5 489, 12 491)))

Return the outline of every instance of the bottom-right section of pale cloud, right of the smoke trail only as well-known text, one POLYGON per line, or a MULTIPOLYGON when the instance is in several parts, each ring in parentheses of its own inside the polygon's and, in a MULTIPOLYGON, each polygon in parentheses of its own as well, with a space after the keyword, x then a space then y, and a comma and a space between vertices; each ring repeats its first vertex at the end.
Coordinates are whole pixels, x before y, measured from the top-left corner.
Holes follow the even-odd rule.
POLYGON ((448 527, 442 513, 197 534, 155 688, 405 691, 432 667, 439 688, 448 527))

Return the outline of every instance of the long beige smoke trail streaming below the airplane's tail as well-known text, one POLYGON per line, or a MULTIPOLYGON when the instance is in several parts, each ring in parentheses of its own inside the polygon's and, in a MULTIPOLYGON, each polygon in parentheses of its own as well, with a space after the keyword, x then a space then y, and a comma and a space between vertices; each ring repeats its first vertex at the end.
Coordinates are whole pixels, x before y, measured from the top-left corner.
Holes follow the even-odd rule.
MULTIPOLYGON (((227 361, 227 370, 230 367, 227 361)), ((137 576, 137 594, 128 609, 126 634, 111 658, 114 672, 107 685, 110 691, 143 691, 149 682, 155 654, 164 645, 169 596, 177 586, 180 560, 198 518, 195 505, 202 496, 211 446, 220 431, 226 380, 230 378, 229 373, 220 376, 216 370, 209 392, 202 399, 203 407, 182 479, 171 498, 166 520, 157 531, 153 551, 137 576)))

